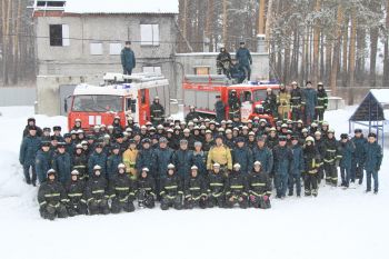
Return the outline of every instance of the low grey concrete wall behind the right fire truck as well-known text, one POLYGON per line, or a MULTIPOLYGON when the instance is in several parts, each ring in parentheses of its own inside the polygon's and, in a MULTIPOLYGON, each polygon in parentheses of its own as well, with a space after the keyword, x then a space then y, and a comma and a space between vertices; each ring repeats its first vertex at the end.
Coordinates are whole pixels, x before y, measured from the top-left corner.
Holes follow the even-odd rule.
MULTIPOLYGON (((176 60, 176 84, 177 84, 177 98, 182 98, 182 79, 184 74, 194 74, 194 67, 197 66, 209 66, 210 73, 217 73, 216 59, 219 53, 217 52, 205 52, 205 53, 177 53, 176 60)), ((231 58, 235 54, 231 53, 231 58)), ((269 54, 268 53, 251 53, 252 66, 251 66, 251 80, 269 79, 269 54)))

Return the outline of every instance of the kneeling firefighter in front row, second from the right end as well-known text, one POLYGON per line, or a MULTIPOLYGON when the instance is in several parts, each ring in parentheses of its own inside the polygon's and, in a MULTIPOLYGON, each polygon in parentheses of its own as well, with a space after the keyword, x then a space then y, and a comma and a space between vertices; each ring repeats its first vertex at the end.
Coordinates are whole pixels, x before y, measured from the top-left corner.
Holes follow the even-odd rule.
POLYGON ((240 208, 248 207, 248 186, 247 178, 240 171, 240 165, 233 165, 233 170, 229 173, 226 181, 226 208, 232 208, 239 205, 240 208))

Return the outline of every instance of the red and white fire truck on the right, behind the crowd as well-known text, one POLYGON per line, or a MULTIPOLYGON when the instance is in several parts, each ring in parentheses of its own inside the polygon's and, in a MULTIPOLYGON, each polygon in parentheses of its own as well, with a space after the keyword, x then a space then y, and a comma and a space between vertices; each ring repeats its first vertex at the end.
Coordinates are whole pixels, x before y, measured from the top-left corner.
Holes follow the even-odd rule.
POLYGON ((263 111, 262 101, 266 99, 267 89, 273 89, 277 94, 279 84, 270 81, 247 82, 242 84, 233 84, 226 76, 206 74, 206 76, 186 76, 183 83, 183 103, 184 114, 189 112, 189 108, 193 106, 201 117, 216 117, 215 102, 216 97, 220 96, 226 104, 226 118, 229 118, 228 99, 231 91, 236 90, 240 99, 240 119, 246 122, 249 119, 258 117, 266 119, 270 123, 275 123, 271 114, 263 111))

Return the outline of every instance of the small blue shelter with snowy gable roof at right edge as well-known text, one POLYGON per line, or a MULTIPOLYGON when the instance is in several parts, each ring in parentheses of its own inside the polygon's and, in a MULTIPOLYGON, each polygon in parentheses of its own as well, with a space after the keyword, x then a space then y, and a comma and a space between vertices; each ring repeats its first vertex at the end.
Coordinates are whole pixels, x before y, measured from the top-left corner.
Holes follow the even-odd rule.
POLYGON ((349 132, 355 124, 369 128, 377 133, 383 147, 385 124, 389 120, 389 89, 371 89, 349 119, 349 132))

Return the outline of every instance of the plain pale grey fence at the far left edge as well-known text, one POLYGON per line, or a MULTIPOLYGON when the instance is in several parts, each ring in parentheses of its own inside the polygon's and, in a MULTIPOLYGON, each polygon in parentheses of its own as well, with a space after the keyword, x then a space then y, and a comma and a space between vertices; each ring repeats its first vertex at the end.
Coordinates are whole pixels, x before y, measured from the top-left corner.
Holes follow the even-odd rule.
POLYGON ((34 87, 2 87, 0 88, 0 107, 33 106, 37 101, 34 87))

